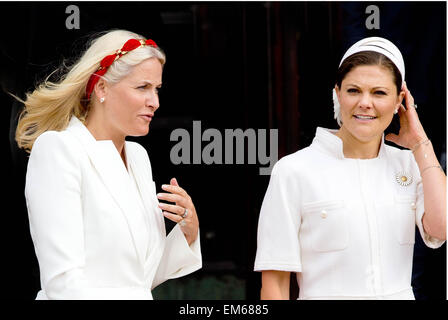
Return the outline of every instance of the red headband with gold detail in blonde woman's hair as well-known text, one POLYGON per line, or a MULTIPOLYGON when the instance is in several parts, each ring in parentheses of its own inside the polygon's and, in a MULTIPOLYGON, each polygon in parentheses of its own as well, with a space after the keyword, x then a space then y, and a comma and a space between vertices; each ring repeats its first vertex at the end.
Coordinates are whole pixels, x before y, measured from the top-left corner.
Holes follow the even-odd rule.
POLYGON ((87 82, 87 86, 86 86, 86 97, 87 97, 87 100, 90 99, 90 95, 92 94, 93 88, 95 87, 95 84, 98 82, 99 78, 101 76, 103 76, 107 72, 107 69, 109 69, 109 67, 112 65, 112 63, 115 60, 118 60, 119 58, 124 56, 129 51, 137 49, 137 48, 139 48, 141 46, 152 46, 154 48, 157 48, 157 44, 153 40, 151 40, 151 39, 148 39, 148 40, 145 40, 145 39, 139 39, 139 40, 137 40, 137 39, 129 39, 123 45, 123 48, 118 49, 114 54, 111 54, 111 55, 108 55, 108 56, 104 57, 104 59, 101 60, 100 67, 98 68, 98 70, 95 71, 90 76, 89 82, 87 82))

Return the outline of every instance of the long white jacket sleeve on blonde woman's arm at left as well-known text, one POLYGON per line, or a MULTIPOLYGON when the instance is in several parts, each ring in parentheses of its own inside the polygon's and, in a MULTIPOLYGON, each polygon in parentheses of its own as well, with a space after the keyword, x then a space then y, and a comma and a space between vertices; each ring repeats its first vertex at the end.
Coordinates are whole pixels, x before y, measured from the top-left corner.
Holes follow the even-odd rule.
POLYGON ((85 286, 81 170, 67 138, 54 131, 39 136, 26 174, 31 237, 50 299, 70 299, 67 290, 85 286))

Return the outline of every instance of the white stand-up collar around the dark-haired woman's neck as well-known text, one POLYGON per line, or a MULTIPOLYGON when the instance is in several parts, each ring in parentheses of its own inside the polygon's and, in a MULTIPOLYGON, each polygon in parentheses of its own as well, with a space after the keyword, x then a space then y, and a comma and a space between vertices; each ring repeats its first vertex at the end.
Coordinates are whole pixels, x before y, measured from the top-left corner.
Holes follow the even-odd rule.
MULTIPOLYGON (((336 129, 327 129, 322 127, 317 127, 316 136, 313 139, 313 143, 311 144, 313 147, 317 147, 323 152, 336 157, 337 159, 348 159, 344 156, 344 145, 336 133, 338 130, 336 129)), ((378 152, 378 157, 372 159, 363 159, 363 160, 374 160, 380 159, 386 156, 386 145, 384 143, 384 133, 381 137, 381 146, 380 151, 378 152)))

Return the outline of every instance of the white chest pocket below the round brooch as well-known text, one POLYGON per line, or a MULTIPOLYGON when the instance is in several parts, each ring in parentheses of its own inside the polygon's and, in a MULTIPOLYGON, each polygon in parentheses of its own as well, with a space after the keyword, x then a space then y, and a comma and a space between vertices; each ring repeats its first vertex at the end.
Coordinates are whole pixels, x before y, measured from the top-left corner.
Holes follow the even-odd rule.
POLYGON ((415 196, 396 196, 395 208, 393 208, 393 212, 389 212, 397 240, 402 245, 415 242, 415 209, 415 196))

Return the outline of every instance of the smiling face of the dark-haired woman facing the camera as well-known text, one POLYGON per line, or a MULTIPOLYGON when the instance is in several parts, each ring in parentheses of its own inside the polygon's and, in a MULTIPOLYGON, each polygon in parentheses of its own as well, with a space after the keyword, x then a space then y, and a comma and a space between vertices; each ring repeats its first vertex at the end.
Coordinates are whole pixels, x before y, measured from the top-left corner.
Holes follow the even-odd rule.
POLYGON ((392 73, 381 66, 355 67, 335 89, 341 130, 362 142, 381 138, 404 97, 404 92, 397 95, 392 73))

